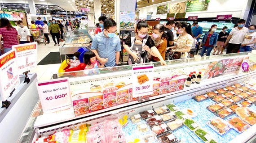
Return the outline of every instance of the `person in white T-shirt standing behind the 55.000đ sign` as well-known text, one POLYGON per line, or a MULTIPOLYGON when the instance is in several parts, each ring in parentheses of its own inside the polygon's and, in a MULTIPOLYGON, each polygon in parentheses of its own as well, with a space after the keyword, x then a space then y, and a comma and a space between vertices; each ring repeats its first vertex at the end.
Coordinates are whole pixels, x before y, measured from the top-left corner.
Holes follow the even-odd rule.
POLYGON ((29 43, 29 29, 23 25, 22 21, 18 21, 17 24, 19 25, 18 36, 20 39, 20 44, 29 43))

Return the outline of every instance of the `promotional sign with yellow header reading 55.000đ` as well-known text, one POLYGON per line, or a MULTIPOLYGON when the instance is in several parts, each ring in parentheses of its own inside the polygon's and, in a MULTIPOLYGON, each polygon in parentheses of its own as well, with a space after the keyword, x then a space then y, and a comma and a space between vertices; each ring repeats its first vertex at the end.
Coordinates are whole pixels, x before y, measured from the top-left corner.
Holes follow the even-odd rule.
POLYGON ((19 74, 29 71, 37 65, 37 42, 12 46, 16 50, 17 67, 19 74))

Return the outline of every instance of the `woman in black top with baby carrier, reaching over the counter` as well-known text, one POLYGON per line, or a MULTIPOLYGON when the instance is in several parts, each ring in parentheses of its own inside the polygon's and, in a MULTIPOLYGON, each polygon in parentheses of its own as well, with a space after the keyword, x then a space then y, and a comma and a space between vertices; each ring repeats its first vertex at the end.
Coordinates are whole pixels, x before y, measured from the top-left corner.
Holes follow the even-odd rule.
MULTIPOLYGON (((135 63, 140 63, 141 59, 146 59, 145 56, 147 55, 147 53, 150 53, 152 56, 158 57, 162 65, 166 65, 165 61, 163 60, 163 57, 160 55, 159 51, 154 46, 154 41, 151 39, 149 34, 147 34, 148 27, 149 25, 146 23, 146 21, 139 21, 135 28, 134 40, 132 40, 131 34, 129 34, 124 42, 124 49, 128 52, 129 56, 132 56, 131 59, 133 59, 135 63), (140 55, 133 48, 146 50, 146 52, 140 55), (140 55, 141 58, 138 55, 140 55)), ((128 60, 127 63, 132 64, 133 62, 131 63, 128 60)), ((143 63, 146 63, 146 61, 143 60, 143 63)))

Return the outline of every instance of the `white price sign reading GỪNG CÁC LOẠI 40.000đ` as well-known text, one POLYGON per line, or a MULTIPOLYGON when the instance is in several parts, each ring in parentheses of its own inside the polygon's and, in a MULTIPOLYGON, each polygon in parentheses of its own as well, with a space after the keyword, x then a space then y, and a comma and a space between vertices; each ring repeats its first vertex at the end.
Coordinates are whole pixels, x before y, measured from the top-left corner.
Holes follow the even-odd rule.
POLYGON ((36 86, 44 113, 72 107, 68 78, 37 82, 36 86))

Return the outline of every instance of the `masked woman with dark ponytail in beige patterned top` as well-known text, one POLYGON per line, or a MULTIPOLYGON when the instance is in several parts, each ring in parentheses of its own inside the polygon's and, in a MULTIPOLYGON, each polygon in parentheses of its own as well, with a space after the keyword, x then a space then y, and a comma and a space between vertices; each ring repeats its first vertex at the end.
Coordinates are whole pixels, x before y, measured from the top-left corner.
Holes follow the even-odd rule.
POLYGON ((168 47, 172 49, 171 52, 181 52, 181 59, 188 57, 188 52, 193 44, 191 25, 187 22, 181 22, 178 25, 178 33, 181 33, 177 39, 177 44, 175 46, 168 47))

